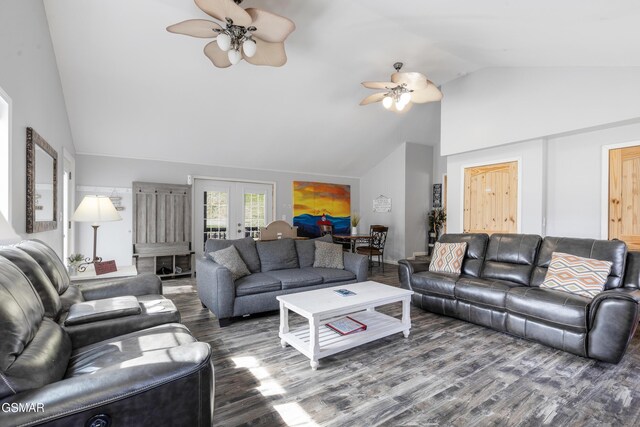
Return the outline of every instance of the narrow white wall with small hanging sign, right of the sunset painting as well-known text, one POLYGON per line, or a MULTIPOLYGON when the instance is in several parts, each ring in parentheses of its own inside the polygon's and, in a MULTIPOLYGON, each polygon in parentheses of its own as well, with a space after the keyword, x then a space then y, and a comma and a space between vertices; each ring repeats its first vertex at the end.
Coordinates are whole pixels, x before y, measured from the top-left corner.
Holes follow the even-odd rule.
POLYGON ((407 144, 402 144, 360 178, 360 231, 373 224, 389 227, 385 262, 405 258, 405 165, 407 144), (391 212, 373 212, 373 200, 391 198, 391 212))

